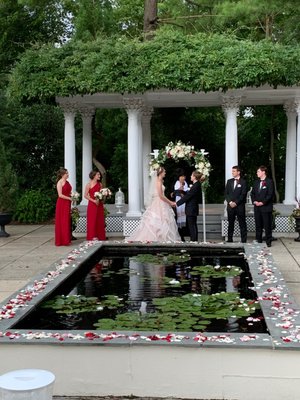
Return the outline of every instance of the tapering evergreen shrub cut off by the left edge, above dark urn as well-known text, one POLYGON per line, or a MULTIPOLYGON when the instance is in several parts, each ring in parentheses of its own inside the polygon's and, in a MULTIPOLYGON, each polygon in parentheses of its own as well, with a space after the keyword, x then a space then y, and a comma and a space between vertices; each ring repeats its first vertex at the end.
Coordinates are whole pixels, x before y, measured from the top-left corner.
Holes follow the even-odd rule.
POLYGON ((0 212, 11 212, 18 199, 18 179, 0 141, 0 212))

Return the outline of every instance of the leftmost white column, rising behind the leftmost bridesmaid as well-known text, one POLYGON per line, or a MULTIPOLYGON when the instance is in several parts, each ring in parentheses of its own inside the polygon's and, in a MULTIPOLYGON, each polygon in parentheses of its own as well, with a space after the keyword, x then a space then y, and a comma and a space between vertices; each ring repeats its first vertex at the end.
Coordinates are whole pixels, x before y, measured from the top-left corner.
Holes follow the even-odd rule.
POLYGON ((65 117, 64 167, 69 171, 72 190, 76 191, 76 147, 75 147, 75 114, 74 104, 61 104, 65 117))

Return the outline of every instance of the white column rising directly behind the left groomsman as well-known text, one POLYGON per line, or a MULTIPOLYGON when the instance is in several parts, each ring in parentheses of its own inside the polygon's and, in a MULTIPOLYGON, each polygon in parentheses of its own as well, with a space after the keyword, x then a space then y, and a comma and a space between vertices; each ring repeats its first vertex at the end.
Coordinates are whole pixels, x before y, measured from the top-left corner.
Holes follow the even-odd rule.
POLYGON ((232 167, 238 164, 237 115, 240 102, 240 96, 223 96, 222 108, 226 117, 225 182, 231 178, 232 167))

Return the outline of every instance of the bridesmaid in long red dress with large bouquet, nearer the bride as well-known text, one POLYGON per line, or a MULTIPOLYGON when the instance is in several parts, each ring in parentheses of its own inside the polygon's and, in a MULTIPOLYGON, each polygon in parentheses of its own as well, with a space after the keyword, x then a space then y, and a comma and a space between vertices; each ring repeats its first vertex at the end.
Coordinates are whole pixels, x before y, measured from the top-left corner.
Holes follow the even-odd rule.
POLYGON ((87 240, 105 240, 105 219, 103 202, 95 199, 95 193, 102 188, 99 171, 90 172, 90 182, 86 185, 84 197, 89 201, 87 206, 87 240))

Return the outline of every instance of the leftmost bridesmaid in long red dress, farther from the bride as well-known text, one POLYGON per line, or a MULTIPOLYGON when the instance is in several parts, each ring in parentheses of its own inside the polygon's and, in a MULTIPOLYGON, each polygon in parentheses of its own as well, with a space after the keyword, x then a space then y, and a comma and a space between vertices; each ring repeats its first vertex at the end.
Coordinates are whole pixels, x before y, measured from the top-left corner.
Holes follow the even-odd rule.
POLYGON ((72 186, 67 181, 69 172, 60 168, 57 172, 57 194, 55 210, 55 245, 69 246, 71 244, 71 192, 72 186))

